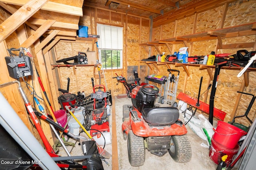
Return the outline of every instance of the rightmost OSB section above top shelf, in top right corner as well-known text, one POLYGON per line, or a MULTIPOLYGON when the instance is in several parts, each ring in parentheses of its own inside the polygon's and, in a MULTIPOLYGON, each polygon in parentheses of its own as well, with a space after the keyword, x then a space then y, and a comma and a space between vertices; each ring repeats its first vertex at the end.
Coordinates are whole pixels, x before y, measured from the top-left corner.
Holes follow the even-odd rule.
POLYGON ((236 0, 228 4, 224 27, 256 22, 256 1, 236 0), (242 3, 241 3, 242 2, 242 3), (241 17, 242 16, 242 17, 241 17))

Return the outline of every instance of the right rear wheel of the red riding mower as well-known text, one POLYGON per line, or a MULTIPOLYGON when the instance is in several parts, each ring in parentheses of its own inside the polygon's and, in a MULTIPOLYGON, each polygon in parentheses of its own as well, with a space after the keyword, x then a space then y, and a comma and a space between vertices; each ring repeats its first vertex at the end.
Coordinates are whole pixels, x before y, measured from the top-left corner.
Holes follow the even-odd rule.
POLYGON ((171 136, 170 149, 168 152, 175 162, 184 163, 190 161, 192 151, 188 137, 186 135, 171 136))

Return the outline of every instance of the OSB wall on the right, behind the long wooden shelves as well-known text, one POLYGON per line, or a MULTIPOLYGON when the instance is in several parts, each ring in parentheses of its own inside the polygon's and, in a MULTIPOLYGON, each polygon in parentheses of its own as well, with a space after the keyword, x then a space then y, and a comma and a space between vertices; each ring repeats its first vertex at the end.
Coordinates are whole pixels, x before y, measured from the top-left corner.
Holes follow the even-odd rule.
MULTIPOLYGON (((228 5, 226 18, 224 20, 224 27, 241 25, 256 21, 256 1, 250 0, 243 1, 243 3, 240 2, 241 1, 235 1, 228 5)), ((214 8, 206 12, 197 14, 194 33, 219 29, 220 21, 222 19, 224 10, 224 6, 220 6, 218 8, 214 8)), ((195 16, 190 16, 182 20, 178 20, 176 30, 174 30, 174 22, 162 25, 162 32, 161 26, 154 28, 154 35, 152 37, 152 41, 156 41, 160 38, 167 39, 172 38, 174 36, 181 36, 193 33, 194 18, 195 16), (176 33, 176 35, 174 35, 174 33, 176 33)), ((255 35, 222 39, 223 45, 255 41, 255 35)), ((188 45, 190 45, 190 48, 192 47, 192 49, 188 49, 188 51, 190 51, 189 56, 208 55, 210 54, 211 51, 214 51, 214 49, 216 48, 216 40, 199 41, 194 43, 188 43, 188 45)), ((184 44, 170 45, 170 47, 172 48, 172 52, 174 52, 178 51, 180 47, 184 47, 184 44)), ((154 47, 152 48, 152 55, 156 55, 158 51, 156 51, 154 47)), ((159 49, 161 52, 166 52, 166 48, 164 48, 164 46, 159 47, 159 49)), ((247 51, 252 51, 252 48, 244 49, 246 49, 247 51)), ((238 50, 240 49, 218 49, 218 53, 235 53, 238 50)), ((209 75, 206 70, 199 70, 199 68, 196 66, 188 66, 190 76, 186 77, 186 73, 184 72, 182 67, 175 67, 172 64, 170 65, 170 67, 172 69, 180 70, 180 79, 178 82, 177 90, 178 93, 183 91, 185 84, 185 93, 191 97, 197 98, 201 76, 203 76, 201 93, 203 93, 207 89, 209 83, 209 75)), ((159 66, 159 69, 161 70, 161 72, 158 72, 156 69, 154 69, 150 70, 150 73, 168 76, 168 72, 166 72, 167 67, 159 66)), ((227 113, 225 121, 230 121, 231 113, 234 109, 236 98, 238 95, 237 91, 240 90, 243 81, 243 77, 238 78, 236 76, 239 73, 239 71, 240 70, 231 69, 222 69, 220 71, 218 86, 214 100, 214 107, 227 113)), ((212 74, 214 75, 214 71, 212 72, 212 74)), ((254 81, 255 74, 255 72, 249 73, 249 86, 245 88, 244 92, 247 92, 249 94, 256 94, 256 82, 254 81)), ((210 81, 210 83, 212 83, 212 81, 210 81)), ((209 104, 210 91, 206 91, 205 93, 208 93, 208 95, 202 95, 200 97, 200 100, 205 101, 207 104, 209 104)), ((242 95, 242 99, 238 106, 238 111, 236 115, 243 115, 245 113, 247 106, 250 103, 250 100, 250 96, 244 94, 242 95)), ((253 105, 249 113, 250 119, 254 119, 255 111, 256 104, 253 105)), ((247 121, 245 118, 236 119, 236 122, 242 123, 244 125, 249 125, 249 121, 247 121)))

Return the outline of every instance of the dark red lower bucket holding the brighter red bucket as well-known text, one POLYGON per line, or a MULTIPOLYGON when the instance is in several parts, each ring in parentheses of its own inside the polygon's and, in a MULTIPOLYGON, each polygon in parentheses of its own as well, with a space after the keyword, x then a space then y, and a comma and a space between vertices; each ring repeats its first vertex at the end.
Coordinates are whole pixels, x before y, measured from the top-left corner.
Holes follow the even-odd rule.
POLYGON ((234 149, 228 149, 228 148, 220 145, 214 139, 212 139, 209 156, 210 156, 210 159, 213 160, 213 162, 215 164, 218 164, 221 161, 222 156, 228 155, 228 157, 225 161, 225 163, 227 164, 226 167, 228 167, 231 164, 231 162, 234 158, 234 155, 237 154, 238 150, 239 150, 238 144, 236 144, 236 147, 234 149))

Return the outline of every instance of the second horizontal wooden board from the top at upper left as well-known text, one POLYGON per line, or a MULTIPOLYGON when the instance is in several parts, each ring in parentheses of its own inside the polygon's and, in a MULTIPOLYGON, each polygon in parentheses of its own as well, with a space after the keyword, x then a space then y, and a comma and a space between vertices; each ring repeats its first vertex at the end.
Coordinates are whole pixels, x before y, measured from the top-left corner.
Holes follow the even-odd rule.
MULTIPOLYGON (((34 25, 43 25, 46 20, 42 19, 36 19, 36 18, 30 18, 28 20, 29 23, 34 24, 34 25)), ((76 29, 78 30, 78 24, 74 23, 66 23, 66 22, 59 22, 56 21, 52 27, 59 27, 59 28, 66 28, 66 29, 76 29)))

